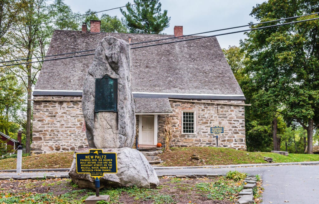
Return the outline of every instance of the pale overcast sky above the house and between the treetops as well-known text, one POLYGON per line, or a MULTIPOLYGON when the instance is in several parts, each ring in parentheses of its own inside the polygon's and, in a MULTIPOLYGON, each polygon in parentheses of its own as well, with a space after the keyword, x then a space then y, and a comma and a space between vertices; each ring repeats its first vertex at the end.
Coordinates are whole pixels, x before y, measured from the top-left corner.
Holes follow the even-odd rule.
MULTIPOLYGON (((250 21, 256 23, 256 19, 249 16, 252 7, 261 4, 265 0, 161 0, 162 11, 167 10, 171 17, 170 26, 163 32, 173 34, 174 25, 183 26, 183 34, 201 33, 216 29, 247 25, 250 21)), ((88 9, 102 11, 124 6, 127 2, 133 4, 133 0, 65 0, 72 11, 84 13, 88 9)), ((107 11, 111 16, 122 17, 120 9, 107 11)), ((99 13, 99 16, 101 13, 99 13)), ((237 30, 247 29, 241 28, 237 30)), ((235 30, 232 30, 235 31, 235 30)), ((219 33, 227 33, 222 31, 219 33)), ((204 35, 213 35, 208 33, 204 35)), ((217 33, 216 33, 217 34, 217 33)), ((244 39, 243 33, 229 34, 217 37, 220 47, 239 45, 239 40, 244 39)))

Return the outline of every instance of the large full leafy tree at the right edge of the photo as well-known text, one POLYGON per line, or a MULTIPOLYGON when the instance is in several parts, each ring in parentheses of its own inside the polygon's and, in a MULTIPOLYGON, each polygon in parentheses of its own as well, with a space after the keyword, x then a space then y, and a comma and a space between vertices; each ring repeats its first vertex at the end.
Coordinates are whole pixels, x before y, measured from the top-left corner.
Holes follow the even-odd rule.
MULTIPOLYGON (((318 1, 269 0, 257 4, 251 15, 259 21, 319 11, 318 1)), ((317 15, 297 20, 314 18, 317 15)), ((293 19, 284 20, 290 22, 293 19)), ((308 154, 313 130, 319 126, 319 21, 308 21, 246 33, 241 43, 249 58, 246 70, 271 104, 307 130, 308 154)), ((271 25, 273 23, 269 23, 271 25)), ((255 25, 260 27, 264 25, 255 25)), ((269 106, 263 106, 265 108, 269 106)))

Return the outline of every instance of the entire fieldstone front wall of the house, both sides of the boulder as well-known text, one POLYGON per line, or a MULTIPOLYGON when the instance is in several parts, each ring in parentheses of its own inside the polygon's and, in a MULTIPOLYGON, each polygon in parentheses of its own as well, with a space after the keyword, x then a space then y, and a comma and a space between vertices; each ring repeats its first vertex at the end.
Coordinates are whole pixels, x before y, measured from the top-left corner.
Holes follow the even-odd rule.
MULTIPOLYGON (((82 97, 35 96, 33 103, 33 138, 31 150, 34 154, 74 151, 88 147, 81 106, 82 97), (41 101, 38 101, 38 100, 41 101)), ((219 135, 219 147, 246 150, 244 101, 202 100, 184 102, 170 100, 173 115, 171 147, 213 146, 216 138, 210 128, 224 126, 219 135), (211 103, 232 103, 222 105, 211 103), (182 134, 182 111, 195 111, 195 134, 182 134)), ((165 144, 163 127, 166 115, 158 115, 158 142, 165 144)), ((138 117, 137 117, 138 123, 138 117)), ((141 130, 140 130, 141 131, 141 130)))

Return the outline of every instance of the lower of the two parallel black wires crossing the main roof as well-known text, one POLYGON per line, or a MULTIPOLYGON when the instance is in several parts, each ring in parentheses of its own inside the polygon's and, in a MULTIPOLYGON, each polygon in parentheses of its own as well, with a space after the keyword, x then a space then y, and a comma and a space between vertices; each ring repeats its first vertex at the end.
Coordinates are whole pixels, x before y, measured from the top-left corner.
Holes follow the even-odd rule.
MULTIPOLYGON (((259 28, 252 28, 252 29, 247 29, 247 30, 234 31, 234 32, 230 32, 230 33, 221 33, 221 34, 217 34, 217 35, 202 36, 202 37, 198 37, 198 38, 190 38, 190 39, 178 40, 178 41, 172 41, 172 42, 164 42, 164 43, 158 43, 158 44, 153 44, 153 45, 145 45, 145 46, 140 46, 140 47, 131 47, 131 49, 137 49, 137 48, 143 48, 143 47, 152 47, 152 46, 165 45, 165 44, 171 44, 171 43, 183 42, 183 41, 189 41, 189 40, 197 40, 197 39, 203 39, 203 38, 210 38, 210 37, 228 35, 228 34, 233 34, 233 33, 241 33, 241 32, 247 32, 247 31, 261 30, 261 29, 264 29, 264 28, 271 28, 271 27, 277 27, 277 26, 281 26, 281 25, 289 25, 289 24, 294 24, 294 23, 301 23, 301 22, 317 20, 317 19, 319 19, 319 18, 311 18, 311 19, 306 19, 306 20, 282 23, 282 24, 278 24, 278 25, 268 25, 268 26, 263 26, 263 27, 259 27, 259 28)), ((55 59, 48 59, 48 60, 40 60, 40 61, 34 61, 34 62, 23 62, 23 63, 16 63, 16 64, 8 64, 8 65, 1 65, 0 67, 27 64, 27 63, 35 63, 35 62, 45 62, 45 61, 52 61, 52 60, 60 60, 60 59, 67 59, 67 58, 73 58, 73 57, 82 57, 82 56, 89 56, 89 55, 95 55, 95 54, 92 53, 92 54, 86 54, 86 55, 75 55, 75 56, 69 56, 69 57, 62 57, 62 58, 55 58, 55 59)))

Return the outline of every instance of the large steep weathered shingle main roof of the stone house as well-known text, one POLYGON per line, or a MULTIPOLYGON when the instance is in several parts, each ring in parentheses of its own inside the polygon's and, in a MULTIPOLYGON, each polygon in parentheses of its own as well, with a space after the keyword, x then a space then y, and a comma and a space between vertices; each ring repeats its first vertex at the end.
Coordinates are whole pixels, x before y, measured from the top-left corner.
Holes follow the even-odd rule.
MULTIPOLYGON (((126 41, 131 38, 131 43, 174 37, 55 30, 47 55, 95 49, 98 42, 108 35, 126 41)), ((184 37, 189 38, 194 36, 184 37)), ((160 42, 178 40, 181 39, 160 42)), ((131 47, 137 46, 140 45, 131 47)), ((86 53, 73 55, 83 54, 86 53)), ((71 55, 47 59, 63 56, 71 55)), ((44 62, 33 95, 46 95, 48 91, 54 90, 78 90, 78 93, 81 93, 84 78, 93 58, 94 55, 44 62)), ((208 98, 211 99, 245 99, 215 37, 131 49, 130 72, 131 88, 135 98, 153 98, 144 97, 147 93, 155 98, 167 98, 171 95, 169 98, 205 99, 210 96, 208 98), (192 97, 189 97, 190 95, 192 97)))

